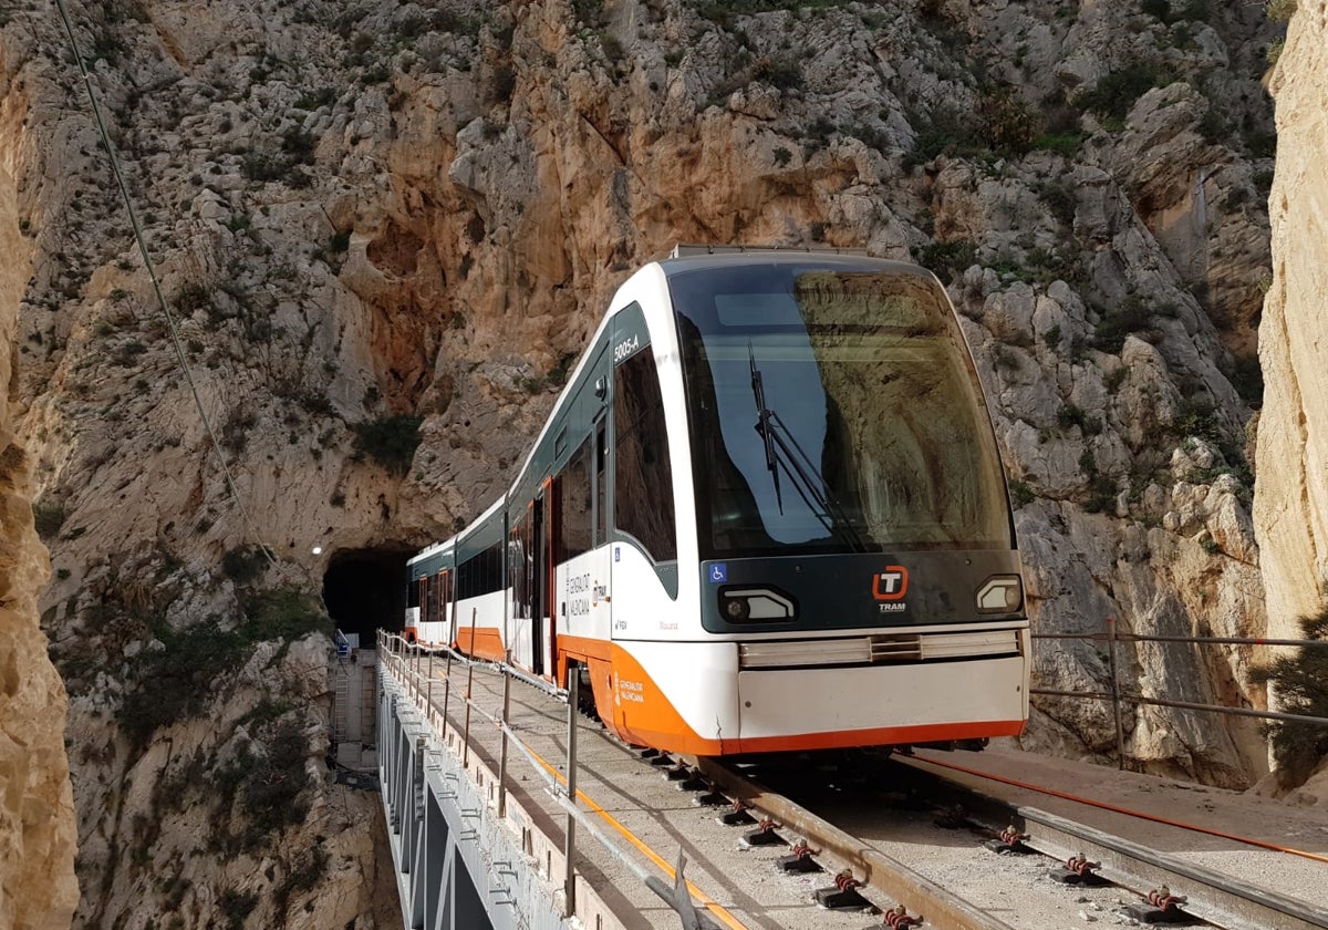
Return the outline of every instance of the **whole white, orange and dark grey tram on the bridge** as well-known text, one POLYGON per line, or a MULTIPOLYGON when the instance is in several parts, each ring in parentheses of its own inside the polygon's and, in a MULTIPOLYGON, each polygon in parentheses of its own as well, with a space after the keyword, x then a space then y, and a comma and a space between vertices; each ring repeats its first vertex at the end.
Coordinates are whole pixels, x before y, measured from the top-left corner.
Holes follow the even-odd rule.
POLYGON ((645 266, 505 497, 409 567, 408 639, 556 690, 580 674, 632 744, 967 741, 1028 719, 991 420, 915 266, 708 248, 645 266))

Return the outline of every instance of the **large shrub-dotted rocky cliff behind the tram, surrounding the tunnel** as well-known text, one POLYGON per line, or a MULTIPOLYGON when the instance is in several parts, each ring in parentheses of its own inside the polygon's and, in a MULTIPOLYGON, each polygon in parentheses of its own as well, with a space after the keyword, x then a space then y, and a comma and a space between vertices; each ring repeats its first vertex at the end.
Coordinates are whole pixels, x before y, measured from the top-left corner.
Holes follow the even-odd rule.
MULTIPOLYGON (((17 430, 56 567, 82 926, 373 922, 376 812, 320 771, 304 597, 339 555, 475 515, 612 288, 677 240, 866 246, 942 275, 1040 631, 1266 628, 1244 449, 1271 275, 1262 9, 73 9, 179 320, 177 341, 58 20, 5 15, 3 112, 21 96, 39 140, 11 155, 8 235, 33 256, 7 298, 17 430)), ((1118 659, 1145 695, 1264 701, 1244 651, 1118 659)), ((1036 660, 1038 686, 1105 686, 1100 643, 1036 660)), ((1109 707, 1036 705, 1028 744, 1114 752, 1109 707)), ((1264 765, 1218 717, 1138 707, 1125 729, 1159 773, 1264 765)))

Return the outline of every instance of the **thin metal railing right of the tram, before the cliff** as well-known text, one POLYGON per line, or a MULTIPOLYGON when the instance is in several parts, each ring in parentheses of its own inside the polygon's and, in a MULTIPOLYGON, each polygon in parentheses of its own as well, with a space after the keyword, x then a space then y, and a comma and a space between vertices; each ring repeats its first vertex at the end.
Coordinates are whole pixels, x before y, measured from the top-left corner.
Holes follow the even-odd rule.
POLYGON ((1077 639, 1085 642, 1106 643, 1109 690, 1108 691, 1066 691, 1060 688, 1029 688, 1029 694, 1048 698, 1076 698, 1082 700, 1109 700, 1116 717, 1116 757, 1117 767, 1125 768, 1127 756, 1125 753, 1125 727, 1122 705, 1151 705, 1174 707, 1186 711, 1202 711, 1206 713, 1223 713, 1228 716, 1258 717, 1260 720, 1275 720, 1280 723, 1301 723, 1316 727, 1328 727, 1328 717, 1319 717, 1307 713, 1284 713, 1280 711, 1260 711, 1251 707, 1231 707, 1226 704, 1203 704, 1187 700, 1171 700, 1167 698, 1150 696, 1129 691, 1122 687, 1118 674, 1117 644, 1120 643, 1193 643, 1201 646, 1293 646, 1293 647, 1328 647, 1328 639, 1267 639, 1255 636, 1171 636, 1150 635, 1135 632, 1121 632, 1117 630, 1116 618, 1106 618, 1106 624, 1101 632, 1035 632, 1033 639, 1077 639))

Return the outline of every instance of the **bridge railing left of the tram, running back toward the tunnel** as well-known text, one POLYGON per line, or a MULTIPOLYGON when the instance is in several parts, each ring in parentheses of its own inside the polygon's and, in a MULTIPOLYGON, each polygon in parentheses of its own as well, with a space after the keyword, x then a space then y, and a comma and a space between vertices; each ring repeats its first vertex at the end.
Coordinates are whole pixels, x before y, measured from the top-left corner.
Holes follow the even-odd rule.
MULTIPOLYGON (((576 804, 576 732, 578 732, 578 676, 570 676, 570 690, 566 692, 567 696, 567 775, 564 777, 559 776, 555 769, 547 765, 538 755, 522 741, 521 736, 513 731, 509 725, 509 716, 511 709, 511 682, 513 679, 519 679, 534 684, 544 691, 552 694, 563 694, 555 691, 548 686, 547 682, 540 682, 538 679, 531 679, 529 676, 521 675, 517 670, 509 668, 506 666, 491 663, 486 660, 474 660, 461 652, 452 648, 424 648, 413 643, 406 643, 406 640, 396 634, 386 632, 385 630, 378 630, 378 664, 380 670, 390 674, 406 691, 416 707, 425 715, 425 719, 433 725, 436 721, 441 723, 444 729, 448 727, 449 721, 449 703, 453 700, 459 700, 465 705, 461 725, 461 764, 465 768, 469 764, 469 756, 471 752, 471 739, 470 739, 470 724, 471 717, 478 717, 483 724, 489 724, 497 728, 502 735, 502 749, 499 753, 498 763, 498 792, 497 800, 494 802, 494 812, 499 818, 506 817, 507 806, 507 789, 511 784, 511 779, 507 772, 509 763, 509 747, 515 748, 517 752, 526 760, 527 767, 543 781, 544 790, 554 800, 554 802, 567 813, 567 824, 564 832, 564 861, 566 861, 566 874, 563 878, 563 902, 564 902, 564 915, 571 918, 576 915, 576 894, 575 894, 575 858, 576 858, 576 828, 582 828, 588 832, 599 844, 612 856, 615 860, 622 862, 627 869, 636 876, 641 884, 645 885, 653 894, 656 894, 665 905, 672 907, 681 921, 683 930, 718 930, 717 925, 709 919, 704 913, 697 910, 692 901, 689 891, 691 884, 684 876, 684 869, 687 866, 687 857, 683 854, 683 849, 679 848, 677 866, 673 874, 673 885, 671 886, 657 874, 652 873, 649 869, 643 866, 635 857, 632 857, 622 845, 615 842, 600 825, 594 820, 590 812, 583 810, 576 804), (441 660, 441 662, 440 662, 441 660), (491 670, 502 675, 503 679, 503 699, 502 699, 502 712, 501 715, 490 713, 485 711, 479 704, 470 696, 473 692, 473 675, 475 666, 481 666, 486 670, 491 670), (466 679, 458 682, 458 687, 453 688, 453 678, 457 670, 465 670, 466 679), (442 707, 441 711, 437 704, 434 704, 434 683, 438 683, 442 692, 442 707)), ((445 732, 442 733, 445 736, 445 732)), ((582 796, 583 797, 583 796, 582 796)))

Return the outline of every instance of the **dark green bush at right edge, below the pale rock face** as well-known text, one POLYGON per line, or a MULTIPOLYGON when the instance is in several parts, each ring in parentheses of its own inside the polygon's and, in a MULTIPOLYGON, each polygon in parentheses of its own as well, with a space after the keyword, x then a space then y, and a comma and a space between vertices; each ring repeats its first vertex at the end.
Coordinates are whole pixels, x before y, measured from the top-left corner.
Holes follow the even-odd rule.
MULTIPOLYGON (((1328 639, 1328 608, 1297 622, 1304 639, 1328 639)), ((1328 717, 1328 647, 1300 646, 1293 656, 1279 656, 1270 666, 1252 668, 1250 678, 1271 684, 1287 713, 1328 717)), ((1328 727, 1278 721, 1264 728, 1278 760, 1283 785, 1303 784, 1328 756, 1328 727)))

